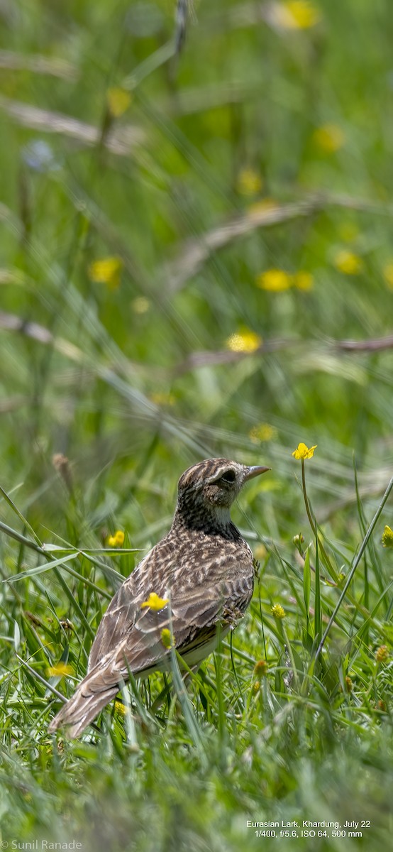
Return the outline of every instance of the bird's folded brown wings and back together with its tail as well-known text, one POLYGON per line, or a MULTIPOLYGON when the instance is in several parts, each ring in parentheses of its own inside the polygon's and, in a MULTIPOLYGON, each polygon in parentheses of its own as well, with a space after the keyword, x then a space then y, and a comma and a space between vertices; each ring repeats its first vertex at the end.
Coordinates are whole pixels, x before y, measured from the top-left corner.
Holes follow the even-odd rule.
POLYGON ((117 591, 94 640, 88 674, 54 717, 51 731, 66 724, 69 735, 78 736, 117 693, 119 682, 128 680, 129 671, 145 676, 154 669, 169 667, 169 636, 166 634, 167 641, 163 641, 162 630, 170 630, 179 653, 188 665, 195 665, 212 649, 219 625, 225 630, 225 626, 235 624, 248 606, 253 594, 253 567, 247 551, 240 559, 237 550, 237 554, 227 553, 225 561, 203 560, 200 571, 189 577, 188 587, 189 575, 182 561, 180 567, 176 566, 168 556, 168 570, 163 575, 155 566, 156 556, 153 549, 145 557, 144 570, 140 571, 142 562, 117 591), (166 586, 162 588, 164 579, 166 586), (151 591, 166 596, 166 590, 169 601, 161 610, 141 607, 151 591))

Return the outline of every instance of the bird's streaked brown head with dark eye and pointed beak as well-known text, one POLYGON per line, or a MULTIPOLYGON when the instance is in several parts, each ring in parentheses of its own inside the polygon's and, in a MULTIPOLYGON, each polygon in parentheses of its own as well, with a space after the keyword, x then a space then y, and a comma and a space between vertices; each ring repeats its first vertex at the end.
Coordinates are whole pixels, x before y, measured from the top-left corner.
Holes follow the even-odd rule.
POLYGON ((206 458, 193 464, 179 479, 178 512, 190 526, 200 526, 203 513, 219 523, 231 521, 229 509, 245 482, 270 470, 260 465, 231 462, 228 458, 206 458))

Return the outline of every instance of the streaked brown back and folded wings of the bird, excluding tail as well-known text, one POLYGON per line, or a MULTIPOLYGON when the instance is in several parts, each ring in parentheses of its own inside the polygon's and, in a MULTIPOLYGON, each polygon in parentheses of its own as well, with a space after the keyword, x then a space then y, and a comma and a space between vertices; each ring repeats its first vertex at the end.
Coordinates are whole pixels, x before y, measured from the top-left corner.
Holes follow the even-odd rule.
POLYGON ((198 551, 191 564, 189 544, 179 546, 170 535, 145 556, 112 598, 100 623, 89 659, 95 669, 114 677, 136 675, 157 667, 165 656, 162 630, 171 630, 179 653, 196 641, 199 631, 215 632, 216 622, 236 622, 253 594, 252 553, 217 540, 198 551), (169 598, 156 612, 141 608, 151 592, 169 598))

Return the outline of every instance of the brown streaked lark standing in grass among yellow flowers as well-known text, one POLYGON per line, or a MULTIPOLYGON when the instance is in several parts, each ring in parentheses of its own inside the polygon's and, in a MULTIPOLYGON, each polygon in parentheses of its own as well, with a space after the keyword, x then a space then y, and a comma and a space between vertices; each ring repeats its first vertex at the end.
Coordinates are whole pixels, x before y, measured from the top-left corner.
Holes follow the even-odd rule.
POLYGON ((242 618, 253 595, 253 554, 230 509, 244 483, 266 470, 208 458, 180 476, 168 535, 112 598, 93 642, 88 674, 50 723, 50 733, 65 725, 69 737, 79 736, 114 698, 119 683, 128 681, 129 671, 135 677, 168 671, 162 630, 171 628, 176 650, 187 665, 197 666, 242 618), (154 595, 162 599, 158 610, 154 595))

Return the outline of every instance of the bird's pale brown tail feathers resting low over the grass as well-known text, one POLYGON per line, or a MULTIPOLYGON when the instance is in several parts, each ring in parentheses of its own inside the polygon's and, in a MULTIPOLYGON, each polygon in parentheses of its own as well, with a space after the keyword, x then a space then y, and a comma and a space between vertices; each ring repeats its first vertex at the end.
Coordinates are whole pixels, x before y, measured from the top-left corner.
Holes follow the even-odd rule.
POLYGON ((88 722, 98 716, 119 691, 118 684, 105 683, 105 671, 95 667, 77 687, 72 698, 67 701, 59 713, 52 719, 48 733, 53 734, 58 728, 66 727, 68 739, 73 740, 82 734, 88 722))

